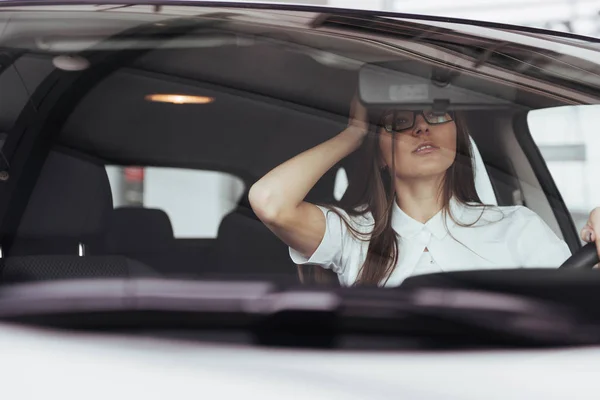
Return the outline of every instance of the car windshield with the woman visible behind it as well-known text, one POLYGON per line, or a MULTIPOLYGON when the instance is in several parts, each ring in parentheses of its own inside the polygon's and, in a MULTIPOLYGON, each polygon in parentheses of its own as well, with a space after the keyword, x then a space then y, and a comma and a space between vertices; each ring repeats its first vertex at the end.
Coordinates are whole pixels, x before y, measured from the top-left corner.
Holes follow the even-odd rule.
POLYGON ((600 204, 579 44, 291 9, 0 24, 3 285, 552 271, 600 204))

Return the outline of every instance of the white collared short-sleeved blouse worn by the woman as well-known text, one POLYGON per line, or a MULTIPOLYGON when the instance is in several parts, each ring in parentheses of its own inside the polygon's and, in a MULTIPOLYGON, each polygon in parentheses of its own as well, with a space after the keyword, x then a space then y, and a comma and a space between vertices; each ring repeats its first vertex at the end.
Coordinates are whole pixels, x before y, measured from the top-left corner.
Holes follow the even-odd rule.
MULTIPOLYGON (((338 209, 355 229, 365 234, 356 238, 336 213, 319 208, 327 221, 319 247, 310 258, 292 248, 290 256, 299 265, 331 269, 342 285, 351 286, 366 259, 373 217, 370 213, 350 217, 338 209)), ((556 268, 571 255, 567 244, 526 207, 482 208, 452 199, 450 214, 454 219, 448 213, 444 217, 440 211, 423 224, 394 203, 392 228, 398 234, 398 260, 386 286, 399 286, 409 276, 432 272, 556 268)))

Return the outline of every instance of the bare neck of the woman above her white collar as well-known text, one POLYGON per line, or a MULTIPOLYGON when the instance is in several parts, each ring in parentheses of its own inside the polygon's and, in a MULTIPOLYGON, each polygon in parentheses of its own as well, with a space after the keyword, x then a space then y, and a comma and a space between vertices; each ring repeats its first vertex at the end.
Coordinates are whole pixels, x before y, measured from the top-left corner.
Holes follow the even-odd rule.
POLYGON ((429 179, 396 179, 396 202, 414 220, 429 221, 444 206, 441 196, 443 176, 429 179))

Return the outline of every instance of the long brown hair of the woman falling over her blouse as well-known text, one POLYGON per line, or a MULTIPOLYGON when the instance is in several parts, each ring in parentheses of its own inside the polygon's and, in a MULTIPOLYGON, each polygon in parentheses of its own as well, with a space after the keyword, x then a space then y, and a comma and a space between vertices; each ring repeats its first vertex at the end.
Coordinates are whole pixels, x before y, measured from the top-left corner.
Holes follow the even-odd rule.
MULTIPOLYGON (((469 132, 464 116, 455 113, 456 124, 456 158, 450 168, 446 170, 441 196, 443 200, 442 212, 450 214, 450 199, 470 205, 483 205, 475 189, 475 175, 469 132)), ((385 283, 391 275, 398 260, 398 235, 391 225, 392 210, 396 197, 394 176, 390 170, 395 170, 394 147, 392 146, 392 165, 382 168, 380 160, 382 154, 379 146, 379 124, 372 124, 370 132, 359 150, 363 162, 359 163, 362 171, 353 175, 344 197, 335 204, 328 205, 331 212, 337 213, 345 222, 349 231, 359 240, 369 242, 369 248, 364 264, 362 265, 355 285, 378 285, 385 283), (367 166, 367 168, 364 168, 367 166), (362 173, 361 173, 362 172, 362 173), (336 208, 343 210, 350 218, 371 213, 374 221, 373 230, 365 237, 359 232, 346 217, 336 208)), ((331 271, 315 267, 312 276, 308 277, 308 269, 301 268, 302 281, 313 280, 318 283, 331 283, 331 271)))

